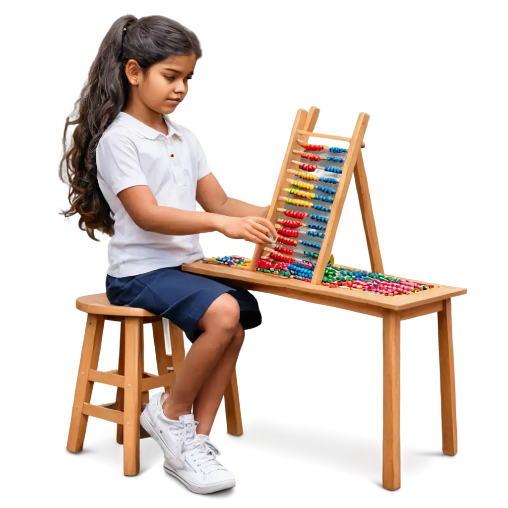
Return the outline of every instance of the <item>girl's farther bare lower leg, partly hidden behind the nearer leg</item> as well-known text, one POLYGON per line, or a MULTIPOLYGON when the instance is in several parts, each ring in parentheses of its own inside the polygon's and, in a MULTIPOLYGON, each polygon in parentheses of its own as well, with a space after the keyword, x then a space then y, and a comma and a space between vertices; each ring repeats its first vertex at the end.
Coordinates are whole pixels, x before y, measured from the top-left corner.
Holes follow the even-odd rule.
MULTIPOLYGON (((205 325, 206 326, 206 325, 205 325)), ((238 324, 223 357, 201 387, 194 401, 194 418, 199 423, 198 434, 209 434, 215 413, 231 380, 242 347, 244 331, 238 324)))

